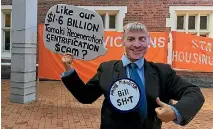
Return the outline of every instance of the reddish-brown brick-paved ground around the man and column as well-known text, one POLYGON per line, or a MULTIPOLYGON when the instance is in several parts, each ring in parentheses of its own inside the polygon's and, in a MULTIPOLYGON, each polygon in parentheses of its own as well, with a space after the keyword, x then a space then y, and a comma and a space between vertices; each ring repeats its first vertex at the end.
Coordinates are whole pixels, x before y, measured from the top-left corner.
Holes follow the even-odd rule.
MULTIPOLYGON (((2 80, 2 129, 99 129, 103 98, 92 105, 78 103, 59 81, 40 81, 38 99, 28 104, 9 100, 8 80, 2 80)), ((172 122, 163 129, 213 129, 213 89, 202 89, 206 102, 186 127, 172 122)))

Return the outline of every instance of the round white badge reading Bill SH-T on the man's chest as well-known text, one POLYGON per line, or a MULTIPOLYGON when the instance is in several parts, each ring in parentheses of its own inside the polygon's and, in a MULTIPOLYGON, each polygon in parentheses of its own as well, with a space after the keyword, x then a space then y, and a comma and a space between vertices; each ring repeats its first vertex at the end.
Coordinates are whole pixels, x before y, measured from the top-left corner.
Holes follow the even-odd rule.
POLYGON ((130 112, 137 108, 140 94, 140 88, 133 80, 119 79, 109 89, 109 101, 117 110, 130 112))

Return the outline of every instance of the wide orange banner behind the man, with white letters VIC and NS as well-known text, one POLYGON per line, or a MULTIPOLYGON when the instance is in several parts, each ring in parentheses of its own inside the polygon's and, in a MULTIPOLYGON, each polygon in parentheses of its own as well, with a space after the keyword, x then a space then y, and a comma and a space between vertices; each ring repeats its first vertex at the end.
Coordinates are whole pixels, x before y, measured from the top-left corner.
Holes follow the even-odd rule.
MULTIPOLYGON (((39 68, 38 77, 45 79, 60 80, 60 74, 65 70, 61 55, 49 51, 44 46, 43 41, 43 25, 39 25, 39 68)), ((153 62, 167 63, 167 43, 168 33, 153 32, 151 35, 151 44, 149 46, 146 59, 153 62)), ((106 31, 104 33, 104 42, 107 53, 91 61, 74 60, 73 67, 77 71, 81 79, 86 83, 94 74, 100 63, 109 60, 120 60, 124 48, 121 44, 122 32, 106 31)))

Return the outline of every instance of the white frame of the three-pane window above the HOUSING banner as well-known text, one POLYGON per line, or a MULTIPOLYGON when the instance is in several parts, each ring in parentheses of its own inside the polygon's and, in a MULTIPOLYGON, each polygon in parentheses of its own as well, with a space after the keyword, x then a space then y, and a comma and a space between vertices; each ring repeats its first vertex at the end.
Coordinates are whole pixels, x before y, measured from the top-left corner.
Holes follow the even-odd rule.
POLYGON ((171 31, 196 33, 197 36, 207 34, 213 38, 213 8, 212 6, 170 6, 169 18, 166 18, 166 26, 171 27, 171 31), (188 29, 188 16, 195 17, 195 30, 188 29), (177 29, 177 16, 184 16, 184 29, 177 29), (207 29, 200 29, 200 16, 207 16, 207 29), (211 24, 212 23, 212 24, 211 24))

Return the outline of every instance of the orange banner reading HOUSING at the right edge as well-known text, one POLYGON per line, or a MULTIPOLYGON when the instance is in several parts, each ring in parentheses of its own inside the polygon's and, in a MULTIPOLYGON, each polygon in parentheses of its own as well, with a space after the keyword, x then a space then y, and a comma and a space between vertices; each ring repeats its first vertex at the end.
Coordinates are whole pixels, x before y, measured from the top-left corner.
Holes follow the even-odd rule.
POLYGON ((172 32, 173 68, 213 72, 213 39, 172 32))

